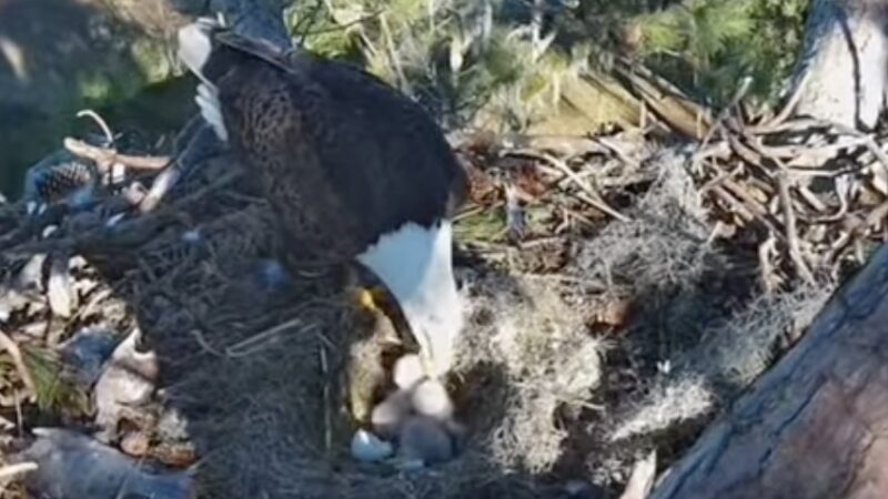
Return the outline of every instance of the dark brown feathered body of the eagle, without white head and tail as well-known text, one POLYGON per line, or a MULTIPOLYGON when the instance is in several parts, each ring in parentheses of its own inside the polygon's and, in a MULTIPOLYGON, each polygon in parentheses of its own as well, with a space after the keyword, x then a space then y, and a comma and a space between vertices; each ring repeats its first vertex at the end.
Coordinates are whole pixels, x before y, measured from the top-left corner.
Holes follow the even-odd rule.
POLYGON ((462 203, 466 174, 418 104, 347 63, 212 30, 203 75, 292 251, 351 258, 462 203))

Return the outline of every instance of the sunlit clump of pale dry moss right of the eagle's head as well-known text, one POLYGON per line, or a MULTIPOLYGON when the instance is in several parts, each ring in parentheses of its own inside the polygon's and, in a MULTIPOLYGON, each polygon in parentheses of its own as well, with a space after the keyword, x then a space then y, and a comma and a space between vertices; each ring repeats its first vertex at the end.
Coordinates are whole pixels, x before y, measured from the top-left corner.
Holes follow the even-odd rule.
POLYGON ((601 380, 604 345, 586 333, 587 312, 569 307, 551 284, 492 277, 471 289, 475 329, 460 370, 497 364, 509 388, 507 397, 497 397, 504 407, 478 410, 503 413, 488 422, 492 456, 506 468, 549 471, 567 437, 555 424, 556 410, 588 401, 601 380))

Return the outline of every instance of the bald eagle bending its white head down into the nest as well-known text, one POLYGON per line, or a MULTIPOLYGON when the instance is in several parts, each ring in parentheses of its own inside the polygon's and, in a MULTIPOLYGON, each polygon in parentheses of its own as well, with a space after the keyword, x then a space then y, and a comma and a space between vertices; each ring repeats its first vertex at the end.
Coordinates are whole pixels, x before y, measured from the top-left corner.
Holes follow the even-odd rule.
POLYGON ((467 179, 415 102, 345 62, 282 50, 201 19, 179 31, 203 119, 262 185, 295 254, 370 268, 438 377, 463 307, 452 215, 467 179))

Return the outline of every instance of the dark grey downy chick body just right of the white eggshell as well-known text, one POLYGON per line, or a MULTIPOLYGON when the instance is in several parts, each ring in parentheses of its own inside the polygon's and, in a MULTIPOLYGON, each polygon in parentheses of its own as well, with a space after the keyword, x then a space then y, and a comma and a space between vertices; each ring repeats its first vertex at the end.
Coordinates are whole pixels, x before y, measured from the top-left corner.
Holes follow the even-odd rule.
POLYGON ((442 421, 423 416, 413 416, 404 421, 398 435, 397 457, 401 460, 435 465, 453 456, 453 438, 442 421))

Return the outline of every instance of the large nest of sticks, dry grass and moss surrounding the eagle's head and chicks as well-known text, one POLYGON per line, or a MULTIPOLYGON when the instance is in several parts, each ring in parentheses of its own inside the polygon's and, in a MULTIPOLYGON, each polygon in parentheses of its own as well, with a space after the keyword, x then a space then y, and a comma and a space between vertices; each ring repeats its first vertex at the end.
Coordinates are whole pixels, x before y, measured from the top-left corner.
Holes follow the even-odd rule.
POLYGON ((884 237, 879 133, 733 109, 715 123, 703 144, 455 140, 473 187, 456 224, 470 323, 451 380, 467 434, 456 459, 414 473, 349 456, 344 373, 374 322, 346 269, 282 263, 236 157, 183 138, 175 166, 67 142, 100 170, 127 166, 127 185, 88 212, 0 207, 0 416, 82 419, 68 399, 41 405, 34 353, 88 326, 138 327, 160 358, 159 403, 188 420, 204 497, 571 497, 575 479, 617 492, 650 449, 676 458, 884 237), (109 223, 130 182, 171 175, 162 200, 148 190, 109 223))

